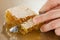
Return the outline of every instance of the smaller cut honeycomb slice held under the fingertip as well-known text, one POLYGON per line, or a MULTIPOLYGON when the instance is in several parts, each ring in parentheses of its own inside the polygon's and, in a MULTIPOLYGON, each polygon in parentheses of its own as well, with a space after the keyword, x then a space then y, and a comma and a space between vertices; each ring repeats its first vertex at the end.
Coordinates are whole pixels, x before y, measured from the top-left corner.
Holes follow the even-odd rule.
POLYGON ((33 30, 39 30, 40 24, 34 24, 32 18, 21 24, 20 32, 26 34, 33 30))

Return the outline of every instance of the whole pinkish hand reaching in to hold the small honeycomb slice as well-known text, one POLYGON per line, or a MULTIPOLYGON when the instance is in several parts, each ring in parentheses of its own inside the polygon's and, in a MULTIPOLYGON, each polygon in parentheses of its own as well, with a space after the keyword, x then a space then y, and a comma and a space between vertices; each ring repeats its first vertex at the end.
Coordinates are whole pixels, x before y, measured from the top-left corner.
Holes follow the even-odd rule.
POLYGON ((41 12, 44 13, 46 11, 47 12, 33 18, 33 21, 36 24, 52 20, 41 26, 40 28, 41 32, 55 30, 55 34, 60 36, 60 6, 56 7, 59 4, 60 4, 60 0, 59 1, 48 0, 48 2, 40 10, 40 13, 41 12), (51 10, 51 8, 54 8, 54 9, 51 10))

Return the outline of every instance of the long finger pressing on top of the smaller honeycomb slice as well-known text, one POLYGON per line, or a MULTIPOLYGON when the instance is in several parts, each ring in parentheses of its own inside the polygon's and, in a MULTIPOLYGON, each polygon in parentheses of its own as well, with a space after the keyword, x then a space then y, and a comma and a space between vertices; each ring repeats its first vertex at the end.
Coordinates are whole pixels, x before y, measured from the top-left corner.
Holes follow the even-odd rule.
POLYGON ((51 19, 55 19, 58 17, 60 17, 60 9, 52 10, 52 11, 49 11, 45 14, 36 16, 33 18, 33 22, 38 24, 38 23, 49 21, 51 19))

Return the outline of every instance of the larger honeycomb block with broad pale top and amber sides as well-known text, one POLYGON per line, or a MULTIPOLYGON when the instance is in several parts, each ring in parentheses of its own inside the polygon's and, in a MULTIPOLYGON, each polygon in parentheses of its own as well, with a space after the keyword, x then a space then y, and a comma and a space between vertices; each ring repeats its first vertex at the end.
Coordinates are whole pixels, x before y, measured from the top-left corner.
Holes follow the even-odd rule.
POLYGON ((35 12, 25 6, 17 6, 6 10, 5 20, 7 23, 20 24, 33 18, 36 15, 35 12))

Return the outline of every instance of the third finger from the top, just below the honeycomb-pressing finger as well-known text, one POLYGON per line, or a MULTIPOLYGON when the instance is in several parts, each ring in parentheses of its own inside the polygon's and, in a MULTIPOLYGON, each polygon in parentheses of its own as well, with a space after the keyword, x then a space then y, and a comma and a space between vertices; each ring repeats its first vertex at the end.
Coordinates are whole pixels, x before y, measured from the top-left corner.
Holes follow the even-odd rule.
POLYGON ((44 24, 40 30, 41 32, 47 32, 47 31, 50 31, 50 30, 53 30, 53 29, 56 29, 60 27, 60 19, 56 19, 54 21, 51 21, 50 23, 48 24, 44 24))

